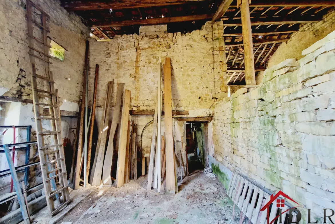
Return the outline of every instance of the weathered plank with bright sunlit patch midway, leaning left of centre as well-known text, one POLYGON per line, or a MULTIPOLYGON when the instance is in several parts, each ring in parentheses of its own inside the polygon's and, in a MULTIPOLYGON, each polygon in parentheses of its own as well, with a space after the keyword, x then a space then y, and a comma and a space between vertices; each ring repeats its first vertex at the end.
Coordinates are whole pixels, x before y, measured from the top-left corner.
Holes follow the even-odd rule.
POLYGON ((109 121, 109 114, 111 111, 112 98, 113 98, 112 97, 113 84, 114 84, 114 80, 110 82, 110 85, 109 85, 109 92, 107 95, 108 102, 107 102, 107 107, 106 107, 105 122, 101 130, 102 132, 99 133, 101 135, 101 138, 100 138, 100 145, 99 145, 99 150, 97 154, 94 174, 93 174, 93 181, 92 181, 93 186, 99 186, 101 183, 101 175, 103 171, 103 163, 104 163, 104 156, 105 156, 105 149, 106 149, 106 138, 107 138, 107 133, 108 133, 108 121, 109 121))

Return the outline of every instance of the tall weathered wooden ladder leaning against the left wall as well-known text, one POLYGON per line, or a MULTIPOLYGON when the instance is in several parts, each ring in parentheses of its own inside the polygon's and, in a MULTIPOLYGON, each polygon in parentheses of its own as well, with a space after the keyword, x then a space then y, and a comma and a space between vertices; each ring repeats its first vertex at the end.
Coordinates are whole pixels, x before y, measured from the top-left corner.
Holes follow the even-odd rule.
POLYGON ((30 0, 27 0, 26 6, 37 145, 47 204, 51 215, 54 215, 70 202, 70 197, 61 135, 59 97, 57 89, 55 91, 52 72, 49 71, 49 65, 52 64, 49 61, 49 58, 52 58, 49 56, 51 46, 48 45, 47 40, 49 16, 30 0), (40 106, 49 107, 49 113, 44 113, 44 111, 40 113, 40 106), (50 120, 51 131, 42 130, 43 120, 50 120), (49 136, 52 137, 52 141, 48 139, 49 136), (52 182, 54 183, 53 189, 52 182), (56 195, 61 196, 58 197, 60 203, 57 208, 54 204, 56 195))

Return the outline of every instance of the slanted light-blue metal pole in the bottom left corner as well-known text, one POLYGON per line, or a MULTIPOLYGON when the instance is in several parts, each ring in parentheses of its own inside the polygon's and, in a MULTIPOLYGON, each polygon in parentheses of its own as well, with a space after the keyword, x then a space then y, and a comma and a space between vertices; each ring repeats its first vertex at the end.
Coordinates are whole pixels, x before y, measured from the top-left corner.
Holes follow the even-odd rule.
POLYGON ((5 149, 6 159, 7 159, 8 165, 9 165, 10 173, 12 174, 12 179, 13 179, 15 191, 16 191, 16 194, 17 194, 17 199, 18 199, 18 202, 19 202, 19 205, 20 205, 23 221, 24 221, 25 224, 30 224, 27 208, 26 208, 25 203, 24 203, 24 197, 22 195, 21 188, 20 188, 20 183, 19 183, 19 180, 18 180, 16 172, 15 172, 14 163, 13 163, 12 158, 10 156, 8 144, 4 145, 4 149, 5 149))

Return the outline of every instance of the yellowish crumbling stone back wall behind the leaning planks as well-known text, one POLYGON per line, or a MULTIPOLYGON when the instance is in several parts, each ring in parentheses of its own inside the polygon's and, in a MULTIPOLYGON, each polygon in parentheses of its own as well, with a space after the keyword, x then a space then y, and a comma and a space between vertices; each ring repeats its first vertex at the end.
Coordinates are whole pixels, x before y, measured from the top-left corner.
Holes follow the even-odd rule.
MULTIPOLYGON (((157 78, 161 76, 163 90, 163 63, 171 58, 173 109, 188 110, 190 117, 208 116, 213 97, 227 95, 223 23, 207 22, 201 30, 182 34, 167 33, 166 25, 144 26, 140 35, 119 35, 108 42, 90 42, 89 86, 93 89, 95 64, 99 64, 97 87, 97 121, 106 98, 107 82, 124 82, 131 90, 132 109, 155 109, 157 78), (215 90, 213 83, 215 76, 215 90)), ((116 84, 113 104, 116 101, 116 84)), ((92 98, 89 93, 89 99, 92 98)), ((213 109, 213 108, 212 108, 213 109)), ((138 145, 144 126, 153 116, 133 116, 138 125, 138 145)), ((162 120, 162 126, 164 122, 162 120)), ((185 151, 185 122, 174 120, 176 149, 185 151)), ((161 134, 164 132, 162 128, 161 134)), ((152 124, 143 133, 143 152, 148 156, 152 124)), ((184 158, 185 162, 186 158, 184 158)))

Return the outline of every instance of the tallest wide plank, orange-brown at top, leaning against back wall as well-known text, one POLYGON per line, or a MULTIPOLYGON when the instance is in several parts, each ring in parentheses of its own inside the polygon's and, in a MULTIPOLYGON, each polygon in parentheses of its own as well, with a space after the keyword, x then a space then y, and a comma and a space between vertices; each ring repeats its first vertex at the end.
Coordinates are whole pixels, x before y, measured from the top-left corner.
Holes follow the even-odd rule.
POLYGON ((168 194, 176 193, 175 162, 172 133, 172 93, 171 93, 171 59, 165 58, 164 66, 164 123, 165 123, 165 155, 166 155, 166 189, 168 194))

